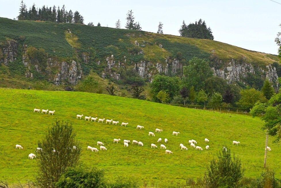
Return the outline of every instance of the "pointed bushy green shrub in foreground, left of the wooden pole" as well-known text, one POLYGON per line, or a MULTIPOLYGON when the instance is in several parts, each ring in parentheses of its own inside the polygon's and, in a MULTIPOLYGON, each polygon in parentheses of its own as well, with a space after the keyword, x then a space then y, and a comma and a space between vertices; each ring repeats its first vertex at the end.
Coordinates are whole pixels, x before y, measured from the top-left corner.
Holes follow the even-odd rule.
POLYGON ((213 159, 210 167, 205 172, 204 182, 208 188, 215 187, 240 187, 240 181, 244 176, 241 161, 233 155, 230 149, 223 147, 218 159, 213 159))

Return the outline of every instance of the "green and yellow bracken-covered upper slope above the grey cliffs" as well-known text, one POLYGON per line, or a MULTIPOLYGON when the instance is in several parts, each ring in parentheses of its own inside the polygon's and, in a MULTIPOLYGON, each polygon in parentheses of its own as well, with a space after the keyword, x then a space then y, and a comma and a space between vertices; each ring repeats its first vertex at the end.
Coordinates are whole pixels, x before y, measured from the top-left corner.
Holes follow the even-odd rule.
POLYGON ((214 53, 225 62, 243 58, 246 62, 264 65, 279 61, 278 57, 272 54, 245 50, 207 39, 81 24, 16 21, 7 18, 0 18, 0 25, 0 42, 21 37, 27 45, 43 48, 48 54, 61 58, 73 57, 75 50, 78 50, 88 52, 92 60, 104 60, 106 56, 114 54, 117 60, 122 60, 126 56, 130 62, 139 60, 163 62, 165 58, 176 57, 177 52, 182 52, 185 60, 193 56, 210 58, 210 55, 214 53), (73 33, 74 43, 66 35, 67 29, 73 33), (135 40, 140 43, 139 47, 134 45, 135 40), (163 48, 158 46, 160 43, 163 48), (138 48, 138 51, 142 49, 144 55, 133 55, 131 50, 134 48, 138 48))

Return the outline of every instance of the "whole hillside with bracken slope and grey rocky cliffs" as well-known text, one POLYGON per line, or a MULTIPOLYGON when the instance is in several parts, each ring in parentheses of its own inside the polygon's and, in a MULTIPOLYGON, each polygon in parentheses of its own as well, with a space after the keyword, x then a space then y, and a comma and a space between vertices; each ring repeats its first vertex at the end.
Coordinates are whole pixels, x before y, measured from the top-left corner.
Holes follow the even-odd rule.
POLYGON ((251 73, 278 84, 277 56, 218 41, 7 18, 0 25, 1 87, 32 88, 44 81, 48 90, 58 90, 91 71, 119 84, 128 72, 151 81, 157 73, 181 76, 194 56, 210 60, 214 75, 229 83, 244 82, 251 73))

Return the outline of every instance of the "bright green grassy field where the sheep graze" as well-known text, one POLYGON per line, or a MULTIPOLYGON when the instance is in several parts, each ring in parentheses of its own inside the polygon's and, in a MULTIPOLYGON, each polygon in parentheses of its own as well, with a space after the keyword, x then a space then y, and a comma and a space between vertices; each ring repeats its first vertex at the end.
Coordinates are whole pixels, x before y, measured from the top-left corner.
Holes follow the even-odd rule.
MULTIPOLYGON (((112 178, 126 174, 128 178, 149 183, 167 178, 184 181, 188 177, 201 177, 210 160, 224 145, 240 157, 246 176, 257 176, 263 170, 265 134, 261 130, 262 121, 257 117, 103 94, 14 89, 0 89, 0 109, 0 178, 12 182, 33 179, 37 161, 36 158, 28 159, 28 155, 36 152, 38 140, 45 136, 56 119, 72 122, 83 148, 81 162, 107 169, 107 175, 112 178), (48 115, 33 112, 34 109, 55 112, 48 115), (83 117, 77 119, 77 114, 83 114, 83 117), (113 119, 119 123, 85 121, 85 116, 113 119), (121 122, 128 122, 128 125, 120 126, 121 122), (143 128, 136 129, 137 125, 143 128), (156 128, 163 131, 155 132, 156 128), (180 133, 172 135, 173 131, 180 133), (148 136, 149 132, 155 136, 148 136), (118 143, 113 143, 113 139, 119 138, 118 143), (157 142, 159 138, 162 138, 161 142, 157 142), (131 140, 128 147, 124 147, 124 139, 131 140), (189 140, 192 139, 203 151, 190 147, 189 140), (132 140, 141 141, 143 146, 132 144, 132 140), (240 143, 233 145, 233 140, 240 143), (98 141, 107 150, 101 151, 98 141), (23 149, 16 149, 16 144, 23 149), (157 148, 151 148, 151 144, 157 148), (165 154, 161 144, 172 154, 165 154), (180 144, 188 150, 181 150, 180 144), (88 151, 88 146, 99 151, 88 151)), ((271 151, 268 152, 267 165, 275 170, 277 178, 281 178, 280 144, 273 144, 272 140, 269 139, 271 151)))

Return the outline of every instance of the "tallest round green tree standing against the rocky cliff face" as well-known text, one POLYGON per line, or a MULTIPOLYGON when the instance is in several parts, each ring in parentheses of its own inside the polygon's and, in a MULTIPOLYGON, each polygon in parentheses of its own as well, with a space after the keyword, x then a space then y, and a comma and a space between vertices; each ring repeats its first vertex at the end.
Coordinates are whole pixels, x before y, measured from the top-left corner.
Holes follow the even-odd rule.
POLYGON ((200 58, 192 58, 187 66, 183 67, 183 84, 187 88, 194 86, 195 91, 204 88, 205 81, 213 75, 209 63, 200 58))

